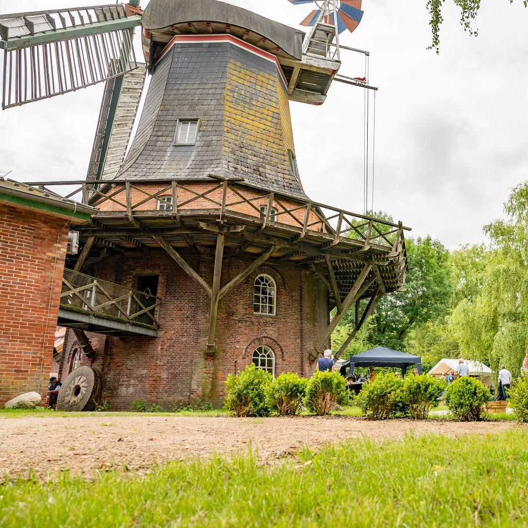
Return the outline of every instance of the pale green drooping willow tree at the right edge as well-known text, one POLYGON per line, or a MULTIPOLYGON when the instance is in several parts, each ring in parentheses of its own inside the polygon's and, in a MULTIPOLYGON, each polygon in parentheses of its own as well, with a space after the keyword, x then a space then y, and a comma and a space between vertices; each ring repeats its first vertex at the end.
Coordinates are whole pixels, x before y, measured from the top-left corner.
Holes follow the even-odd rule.
POLYGON ((491 250, 480 293, 458 303, 450 324, 463 356, 517 374, 528 344, 528 182, 514 189, 505 213, 484 228, 491 250))

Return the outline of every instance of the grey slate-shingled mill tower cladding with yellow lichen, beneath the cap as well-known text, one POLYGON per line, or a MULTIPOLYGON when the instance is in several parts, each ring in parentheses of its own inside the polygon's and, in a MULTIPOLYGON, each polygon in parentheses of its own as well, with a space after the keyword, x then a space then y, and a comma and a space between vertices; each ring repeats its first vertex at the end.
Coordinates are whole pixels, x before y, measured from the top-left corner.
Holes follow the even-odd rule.
POLYGON ((174 45, 116 177, 210 182, 213 174, 306 200, 282 135, 291 124, 280 90, 274 62, 229 42, 174 45), (178 119, 200 119, 196 145, 174 145, 178 119))

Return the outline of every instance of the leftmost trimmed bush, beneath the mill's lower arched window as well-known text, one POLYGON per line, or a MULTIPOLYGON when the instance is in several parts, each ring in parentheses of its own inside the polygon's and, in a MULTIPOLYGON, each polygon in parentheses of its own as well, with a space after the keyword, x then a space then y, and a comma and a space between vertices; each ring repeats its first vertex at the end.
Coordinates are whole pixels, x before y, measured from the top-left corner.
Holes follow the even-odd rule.
POLYGON ((236 416, 269 416, 266 389, 271 380, 269 372, 257 369, 253 364, 236 376, 229 374, 225 381, 224 407, 236 416))

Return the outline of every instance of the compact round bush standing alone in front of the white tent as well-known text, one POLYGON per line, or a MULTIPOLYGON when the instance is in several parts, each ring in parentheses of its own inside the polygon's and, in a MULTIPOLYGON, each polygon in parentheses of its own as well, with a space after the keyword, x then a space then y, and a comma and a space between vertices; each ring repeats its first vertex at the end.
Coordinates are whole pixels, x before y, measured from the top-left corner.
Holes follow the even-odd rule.
POLYGON ((490 398, 491 392, 485 385, 464 376, 448 385, 444 401, 457 420, 480 421, 486 416, 484 404, 490 398))

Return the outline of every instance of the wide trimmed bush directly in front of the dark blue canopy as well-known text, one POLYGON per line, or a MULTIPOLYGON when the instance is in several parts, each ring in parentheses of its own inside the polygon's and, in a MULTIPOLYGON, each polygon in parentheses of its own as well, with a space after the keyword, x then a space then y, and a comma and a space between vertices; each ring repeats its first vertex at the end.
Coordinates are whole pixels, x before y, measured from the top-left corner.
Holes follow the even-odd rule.
POLYGON ((371 420, 386 420, 407 416, 408 406, 403 399, 403 380, 392 372, 378 374, 376 379, 363 384, 354 402, 371 420))

